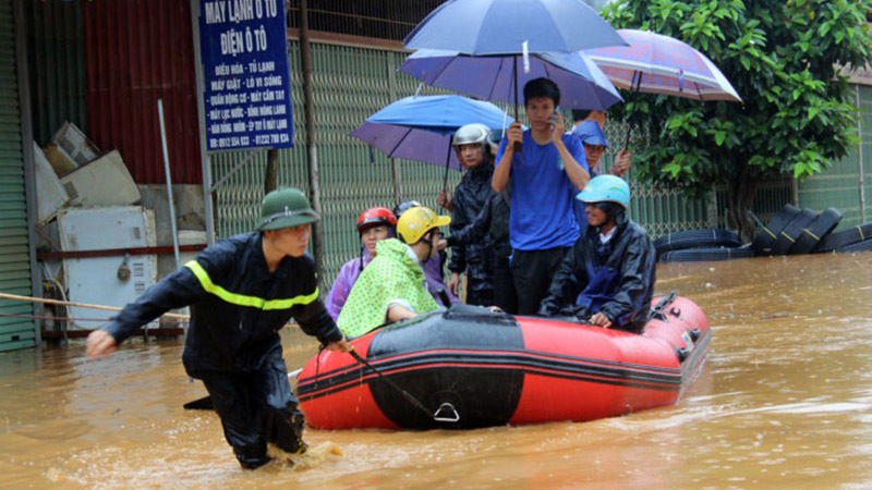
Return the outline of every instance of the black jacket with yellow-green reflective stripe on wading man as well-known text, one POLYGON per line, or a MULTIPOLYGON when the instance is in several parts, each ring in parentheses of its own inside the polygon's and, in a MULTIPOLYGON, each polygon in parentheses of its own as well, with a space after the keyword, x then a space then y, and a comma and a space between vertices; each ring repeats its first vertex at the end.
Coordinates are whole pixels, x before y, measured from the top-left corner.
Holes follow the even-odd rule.
POLYGON ((149 287, 102 328, 121 343, 166 311, 192 307, 182 360, 194 378, 256 371, 281 353, 279 330, 293 317, 323 344, 342 333, 318 297, 312 257, 284 257, 270 273, 261 233, 221 240, 149 287))

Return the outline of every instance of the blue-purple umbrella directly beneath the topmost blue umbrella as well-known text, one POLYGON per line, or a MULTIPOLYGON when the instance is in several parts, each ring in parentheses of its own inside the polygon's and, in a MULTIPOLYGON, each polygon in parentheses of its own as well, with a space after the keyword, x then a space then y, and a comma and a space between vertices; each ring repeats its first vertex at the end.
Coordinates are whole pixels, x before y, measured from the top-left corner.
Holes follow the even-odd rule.
MULTIPOLYGON (((523 87, 533 78, 549 78, 560 89, 560 106, 566 109, 605 110, 622 100, 608 77, 583 54, 560 58, 546 56, 540 53, 530 57, 530 70, 518 73, 519 86, 523 87)), ((419 49, 405 59, 400 71, 434 87, 485 100, 511 102, 518 57, 520 54, 470 57, 457 51, 419 49)))

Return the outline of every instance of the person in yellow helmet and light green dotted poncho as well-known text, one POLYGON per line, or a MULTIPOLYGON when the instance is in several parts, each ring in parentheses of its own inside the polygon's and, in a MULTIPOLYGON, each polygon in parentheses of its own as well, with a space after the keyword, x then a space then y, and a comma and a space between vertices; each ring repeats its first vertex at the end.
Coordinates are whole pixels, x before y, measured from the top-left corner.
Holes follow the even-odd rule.
POLYGON ((445 248, 439 226, 451 222, 432 209, 413 207, 397 220, 397 238, 376 244, 376 256, 351 289, 337 326, 348 338, 386 321, 413 318, 439 307, 426 287, 421 264, 445 248))

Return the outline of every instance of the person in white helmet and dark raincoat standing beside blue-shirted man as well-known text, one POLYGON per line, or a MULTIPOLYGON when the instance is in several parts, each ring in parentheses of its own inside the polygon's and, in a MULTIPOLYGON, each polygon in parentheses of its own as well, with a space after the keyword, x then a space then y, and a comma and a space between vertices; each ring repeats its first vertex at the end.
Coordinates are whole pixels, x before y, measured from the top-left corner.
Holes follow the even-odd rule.
MULTIPOLYGON (((487 207, 493 191, 491 177, 494 167, 491 162, 491 130, 484 124, 467 124, 460 127, 452 139, 457 159, 467 172, 455 187, 455 194, 447 189, 439 196, 439 206, 451 211, 451 233, 472 224, 475 217, 487 207)), ((489 236, 474 243, 457 245, 451 248, 448 270, 451 279, 448 289, 458 295, 460 274, 467 274, 467 304, 491 306, 494 304, 493 244, 489 236)))

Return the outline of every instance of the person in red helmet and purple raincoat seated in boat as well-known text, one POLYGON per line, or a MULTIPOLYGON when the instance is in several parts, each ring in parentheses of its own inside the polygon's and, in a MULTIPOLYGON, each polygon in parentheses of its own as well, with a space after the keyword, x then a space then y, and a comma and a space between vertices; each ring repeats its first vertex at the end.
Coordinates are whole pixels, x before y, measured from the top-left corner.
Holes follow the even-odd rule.
POLYGON ((334 320, 339 318, 339 311, 342 310, 342 306, 346 304, 349 293, 351 293, 351 287, 360 277, 363 268, 375 257, 375 245, 383 240, 395 236, 396 226, 397 217, 393 216, 393 211, 387 208, 370 208, 358 218, 358 234, 363 243, 361 256, 342 265, 330 293, 327 294, 327 299, 324 302, 327 313, 330 314, 334 320))

